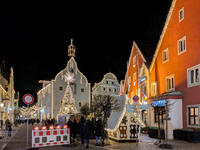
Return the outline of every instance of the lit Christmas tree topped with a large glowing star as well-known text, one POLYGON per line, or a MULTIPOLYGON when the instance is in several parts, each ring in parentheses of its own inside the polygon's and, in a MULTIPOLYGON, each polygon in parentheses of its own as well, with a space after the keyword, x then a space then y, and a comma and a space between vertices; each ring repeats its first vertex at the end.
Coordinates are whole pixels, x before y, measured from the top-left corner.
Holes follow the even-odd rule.
POLYGON ((65 90, 64 97, 61 101, 60 110, 58 111, 57 116, 78 113, 75 106, 75 100, 73 98, 73 94, 70 87, 70 83, 75 81, 74 74, 71 72, 66 72, 63 78, 64 78, 64 81, 67 82, 67 87, 65 90))

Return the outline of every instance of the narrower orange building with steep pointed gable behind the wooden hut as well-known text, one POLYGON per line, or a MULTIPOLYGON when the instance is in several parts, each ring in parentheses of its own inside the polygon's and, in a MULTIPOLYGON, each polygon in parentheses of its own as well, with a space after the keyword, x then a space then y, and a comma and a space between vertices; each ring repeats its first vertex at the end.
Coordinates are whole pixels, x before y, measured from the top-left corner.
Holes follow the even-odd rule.
MULTIPOLYGON (((138 103, 144 104, 149 93, 149 62, 145 55, 138 48, 135 41, 131 49, 129 61, 127 62, 127 72, 124 81, 124 94, 127 94, 132 102, 133 97, 139 97, 138 103)), ((144 123, 148 123, 147 111, 141 113, 141 119, 144 123)))

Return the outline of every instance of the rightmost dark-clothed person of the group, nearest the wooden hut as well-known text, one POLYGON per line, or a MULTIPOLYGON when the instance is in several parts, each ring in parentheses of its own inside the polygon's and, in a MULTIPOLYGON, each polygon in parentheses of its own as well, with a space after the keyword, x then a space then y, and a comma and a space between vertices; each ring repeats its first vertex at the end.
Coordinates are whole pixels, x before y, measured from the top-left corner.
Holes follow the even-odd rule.
POLYGON ((103 129, 103 126, 101 124, 101 120, 96 118, 95 130, 94 130, 95 137, 96 137, 96 146, 99 146, 98 140, 100 140, 102 142, 102 145, 104 145, 104 142, 100 137, 100 136, 102 136, 102 129, 103 129))

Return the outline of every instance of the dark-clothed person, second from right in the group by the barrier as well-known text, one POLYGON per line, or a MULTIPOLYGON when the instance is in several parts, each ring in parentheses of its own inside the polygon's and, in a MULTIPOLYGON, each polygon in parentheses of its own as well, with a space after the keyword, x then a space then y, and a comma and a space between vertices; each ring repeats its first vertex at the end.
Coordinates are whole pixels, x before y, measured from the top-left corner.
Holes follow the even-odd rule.
POLYGON ((92 125, 91 125, 90 117, 87 117, 84 123, 84 129, 83 129, 86 148, 89 148, 89 139, 91 136, 91 130, 92 130, 92 125))

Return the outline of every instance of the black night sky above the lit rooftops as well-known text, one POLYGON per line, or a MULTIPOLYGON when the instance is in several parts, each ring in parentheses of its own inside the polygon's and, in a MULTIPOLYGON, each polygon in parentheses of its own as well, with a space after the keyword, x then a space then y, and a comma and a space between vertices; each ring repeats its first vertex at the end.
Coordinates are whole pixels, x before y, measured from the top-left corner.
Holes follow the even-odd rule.
POLYGON ((0 1, 0 59, 14 69, 20 101, 25 93, 37 101, 38 81, 66 67, 71 38, 78 69, 92 86, 109 71, 120 82, 133 41, 151 61, 171 2, 0 1))

